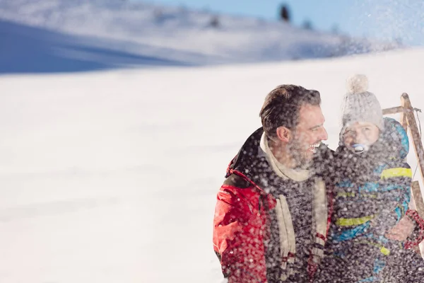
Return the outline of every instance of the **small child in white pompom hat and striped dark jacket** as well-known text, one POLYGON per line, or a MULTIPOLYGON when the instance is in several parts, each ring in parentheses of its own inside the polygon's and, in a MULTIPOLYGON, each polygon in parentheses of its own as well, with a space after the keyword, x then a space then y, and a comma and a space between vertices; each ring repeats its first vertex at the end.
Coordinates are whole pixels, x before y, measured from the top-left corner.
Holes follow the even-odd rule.
POLYGON ((385 237, 404 216, 423 226, 416 212, 408 211, 408 136, 399 122, 383 118, 365 76, 351 78, 348 89, 333 160, 329 244, 314 282, 424 282, 423 259, 405 250, 412 243, 385 237))

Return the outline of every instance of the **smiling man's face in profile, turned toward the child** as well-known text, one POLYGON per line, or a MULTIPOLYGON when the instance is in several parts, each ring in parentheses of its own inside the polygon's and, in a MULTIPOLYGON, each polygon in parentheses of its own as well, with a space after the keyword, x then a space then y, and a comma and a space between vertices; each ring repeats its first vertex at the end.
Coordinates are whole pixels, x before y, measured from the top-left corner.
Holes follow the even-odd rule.
POLYGON ((319 105, 304 104, 300 107, 298 125, 292 131, 288 144, 298 166, 308 166, 321 141, 328 139, 324 122, 319 105))

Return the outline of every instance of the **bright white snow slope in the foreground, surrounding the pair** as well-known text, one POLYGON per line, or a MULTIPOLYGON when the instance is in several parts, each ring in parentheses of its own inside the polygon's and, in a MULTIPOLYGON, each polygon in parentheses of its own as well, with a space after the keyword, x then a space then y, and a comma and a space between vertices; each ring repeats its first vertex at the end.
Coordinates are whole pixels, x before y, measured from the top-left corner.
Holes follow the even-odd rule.
MULTIPOLYGON (((367 74, 384 108, 402 92, 423 108, 423 60, 418 49, 1 76, 0 282, 222 282, 216 192, 266 93, 281 83, 319 90, 334 148, 348 76, 367 74)), ((413 151, 408 159, 415 168, 413 151)))

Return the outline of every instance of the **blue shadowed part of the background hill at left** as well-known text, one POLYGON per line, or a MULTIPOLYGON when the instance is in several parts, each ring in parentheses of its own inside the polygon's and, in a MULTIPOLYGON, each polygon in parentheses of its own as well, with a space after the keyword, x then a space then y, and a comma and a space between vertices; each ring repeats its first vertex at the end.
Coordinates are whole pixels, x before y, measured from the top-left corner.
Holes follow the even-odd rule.
MULTIPOLYGON (((187 62, 114 48, 112 40, 58 33, 0 20, 0 74, 95 71, 140 65, 186 66, 187 62)), ((118 42, 120 45, 123 43, 118 42)), ((141 47, 141 45, 139 45, 141 47)), ((160 48, 155 51, 159 52, 160 48)), ((182 52, 177 56, 184 59, 182 52)))

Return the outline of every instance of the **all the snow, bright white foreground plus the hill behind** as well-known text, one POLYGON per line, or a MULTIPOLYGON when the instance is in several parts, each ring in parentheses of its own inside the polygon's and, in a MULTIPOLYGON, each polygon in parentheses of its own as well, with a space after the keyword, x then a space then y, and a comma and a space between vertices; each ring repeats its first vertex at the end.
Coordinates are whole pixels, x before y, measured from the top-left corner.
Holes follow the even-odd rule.
POLYGON ((352 74, 384 108, 403 92, 424 105, 424 49, 312 59, 352 50, 282 23, 220 16, 211 29, 210 18, 112 0, 0 2, 0 282, 223 282, 216 192, 266 93, 319 90, 333 149, 352 74), (309 59, 270 62, 294 57, 309 59))

